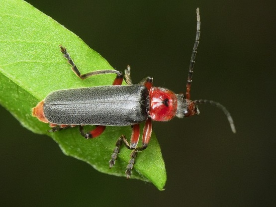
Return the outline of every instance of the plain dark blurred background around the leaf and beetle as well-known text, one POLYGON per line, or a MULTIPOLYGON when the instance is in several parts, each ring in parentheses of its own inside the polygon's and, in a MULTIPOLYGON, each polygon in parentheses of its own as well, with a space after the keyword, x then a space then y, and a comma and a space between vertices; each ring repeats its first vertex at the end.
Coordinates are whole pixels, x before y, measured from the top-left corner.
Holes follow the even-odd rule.
MULTIPOLYGON (((201 36, 192 99, 231 112, 237 133, 216 107, 199 116, 154 122, 168 180, 152 184, 101 174, 63 155, 0 108, 1 206, 276 205, 274 1, 28 0, 80 36, 114 68, 132 66, 133 82, 185 91, 195 38, 201 36)), ((62 40, 61 40, 62 42, 62 40)))

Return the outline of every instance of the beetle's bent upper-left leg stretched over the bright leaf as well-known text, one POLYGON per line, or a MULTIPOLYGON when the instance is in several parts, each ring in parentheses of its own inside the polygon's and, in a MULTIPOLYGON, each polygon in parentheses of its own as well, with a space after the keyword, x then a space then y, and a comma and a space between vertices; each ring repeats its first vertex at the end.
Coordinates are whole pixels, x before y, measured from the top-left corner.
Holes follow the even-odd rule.
MULTIPOLYGON (((66 48, 63 47, 62 45, 60 45, 60 51, 64 54, 63 56, 68 60, 68 63, 70 65, 72 65, 72 70, 73 72, 80 77, 81 79, 86 79, 89 78, 91 76, 95 76, 95 75, 101 75, 101 74, 109 74, 109 73, 116 73, 117 77, 118 76, 122 76, 122 73, 119 71, 115 71, 115 70, 98 70, 98 71, 92 71, 90 73, 86 73, 86 74, 81 74, 80 70, 78 69, 78 67, 75 65, 74 61, 72 60, 72 58, 70 57, 69 53, 67 52, 66 48)), ((116 77, 116 79, 117 79, 116 77)), ((116 80, 115 79, 115 80, 116 80)), ((113 85, 121 85, 121 84, 114 84, 113 85)))

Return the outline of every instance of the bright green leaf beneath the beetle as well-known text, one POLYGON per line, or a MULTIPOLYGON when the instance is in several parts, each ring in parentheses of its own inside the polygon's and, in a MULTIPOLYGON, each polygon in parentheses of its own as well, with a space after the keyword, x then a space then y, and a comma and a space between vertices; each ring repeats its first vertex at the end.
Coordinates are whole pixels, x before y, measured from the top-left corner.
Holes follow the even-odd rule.
MULTIPOLYGON (((0 5, 0 104, 29 130, 51 136, 66 155, 83 160, 100 172, 125 176, 130 150, 122 147, 111 169, 108 161, 118 137, 129 137, 131 127, 106 127, 101 136, 85 140, 77 127, 49 133, 48 124, 31 115, 31 108, 50 92, 113 82, 114 74, 81 81, 70 70, 59 44, 68 49, 83 74, 113 68, 78 36, 25 1, 0 0, 0 5)), ((154 133, 148 149, 138 154, 131 178, 152 182, 163 189, 166 171, 154 133)))

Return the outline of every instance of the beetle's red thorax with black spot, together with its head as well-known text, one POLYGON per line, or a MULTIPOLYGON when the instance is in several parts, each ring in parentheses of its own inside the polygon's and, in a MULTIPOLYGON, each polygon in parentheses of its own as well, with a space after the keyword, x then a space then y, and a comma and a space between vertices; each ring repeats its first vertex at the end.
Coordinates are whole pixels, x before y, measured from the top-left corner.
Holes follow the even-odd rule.
POLYGON ((155 121, 168 121, 174 116, 183 118, 199 114, 197 105, 190 100, 186 100, 183 94, 152 87, 149 92, 150 97, 150 116, 155 121))

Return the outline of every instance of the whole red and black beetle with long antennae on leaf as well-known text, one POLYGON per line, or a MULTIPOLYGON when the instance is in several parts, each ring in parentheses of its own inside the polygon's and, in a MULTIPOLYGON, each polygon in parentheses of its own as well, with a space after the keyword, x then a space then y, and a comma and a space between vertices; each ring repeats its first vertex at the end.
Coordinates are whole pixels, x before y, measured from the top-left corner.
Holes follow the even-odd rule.
POLYGON ((198 115, 197 104, 210 103, 223 110, 230 122, 232 131, 235 133, 233 119, 223 105, 209 100, 190 100, 194 60, 200 36, 199 8, 196 9, 196 14, 196 37, 188 69, 185 94, 175 94, 168 89, 154 87, 153 78, 151 77, 147 77, 138 85, 133 85, 130 78, 130 66, 125 70, 126 86, 121 86, 123 74, 116 70, 98 70, 82 75, 67 49, 60 45, 63 56, 72 66, 73 72, 81 79, 84 80, 94 75, 110 73, 116 74, 116 78, 111 86, 66 89, 52 92, 33 108, 32 115, 42 122, 49 123, 52 128, 49 130, 50 132, 78 125, 81 135, 86 139, 99 136, 106 126, 131 126, 130 142, 127 141, 125 135, 121 135, 115 144, 109 161, 109 167, 111 168, 115 164, 122 144, 132 150, 126 167, 126 178, 131 176, 138 152, 145 150, 149 144, 152 133, 152 121, 168 121, 175 116, 183 118, 195 114, 198 115), (141 122, 145 122, 142 146, 137 146, 141 122), (85 132, 84 126, 88 124, 95 125, 95 128, 90 132, 85 132))

